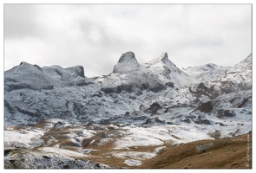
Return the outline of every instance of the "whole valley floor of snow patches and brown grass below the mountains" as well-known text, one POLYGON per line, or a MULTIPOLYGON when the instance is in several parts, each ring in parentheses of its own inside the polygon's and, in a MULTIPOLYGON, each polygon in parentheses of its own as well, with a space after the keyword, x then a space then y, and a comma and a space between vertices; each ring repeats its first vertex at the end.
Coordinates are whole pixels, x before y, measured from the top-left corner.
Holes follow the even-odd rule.
POLYGON ((68 125, 60 121, 5 127, 4 168, 252 169, 251 131, 231 138, 185 141, 175 128, 68 125))

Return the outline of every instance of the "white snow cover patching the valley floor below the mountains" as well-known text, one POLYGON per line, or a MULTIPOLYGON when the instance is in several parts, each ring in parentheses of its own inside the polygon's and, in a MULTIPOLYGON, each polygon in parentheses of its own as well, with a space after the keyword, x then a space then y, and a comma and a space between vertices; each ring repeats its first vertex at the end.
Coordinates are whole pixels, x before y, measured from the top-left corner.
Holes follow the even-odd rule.
MULTIPOLYGON (((182 114, 182 112, 180 112, 182 114)), ((167 118, 167 115, 164 115, 162 119, 167 118)), ((75 147, 72 151, 67 150, 66 148, 60 147, 62 141, 56 140, 53 142, 52 147, 42 147, 44 142, 41 137, 44 133, 49 131, 49 126, 54 126, 57 124, 56 121, 51 122, 52 125, 46 125, 47 128, 23 128, 20 130, 14 130, 11 127, 6 127, 4 131, 4 146, 20 146, 27 149, 33 149, 36 147, 37 151, 43 152, 43 155, 54 158, 58 156, 58 159, 63 158, 86 158, 88 155, 93 156, 94 151, 101 150, 100 148, 95 150, 94 147, 104 147, 109 143, 113 143, 113 147, 108 149, 108 153, 112 157, 120 157, 125 159, 125 164, 128 166, 138 166, 141 163, 144 163, 146 160, 156 157, 157 154, 165 149, 165 144, 181 144, 191 141, 197 141, 202 139, 214 139, 211 135, 211 132, 216 130, 220 131, 220 138, 231 137, 232 134, 240 135, 245 134, 248 131, 251 131, 251 122, 248 119, 251 119, 251 115, 238 117, 238 119, 225 118, 218 119, 209 115, 207 119, 210 119, 213 122, 222 123, 212 124, 212 125, 199 125, 195 124, 193 121, 190 124, 180 123, 180 125, 153 125, 146 126, 144 125, 124 125, 117 127, 115 125, 101 125, 100 130, 95 125, 95 129, 88 129, 91 127, 84 127, 83 125, 63 125, 62 131, 67 131, 69 129, 69 134, 65 134, 65 137, 69 137, 69 141, 73 143, 79 142, 82 144, 84 138, 91 138, 89 145, 84 148, 82 145, 75 147), (72 128, 70 128, 72 127, 72 128), (106 130, 112 127, 115 130, 106 130), (102 129, 102 130, 101 130, 102 129), (104 130, 105 129, 105 130, 104 130), (78 135, 78 132, 80 132, 78 135), (100 140, 96 140, 97 134, 106 131, 108 137, 102 137, 100 140), (116 138, 116 131, 119 135, 116 138), (111 135, 111 132, 113 132, 111 135), (113 136, 113 138, 111 138, 113 136), (95 139, 93 139, 95 138, 95 139), (120 151, 120 150, 129 150, 130 148, 136 147, 148 147, 155 146, 155 150, 152 151, 120 151), (160 146, 160 147, 158 147, 160 146)), ((170 119, 170 118, 169 118, 170 119)), ((165 119, 168 120, 168 119, 165 119)), ((178 122, 179 120, 177 120, 178 122)), ((50 122, 50 121, 49 121, 50 122)), ((59 122, 59 121, 58 121, 59 122)), ((63 122, 63 124, 65 124, 63 122)), ((109 155, 108 154, 108 155, 109 155)), ((26 154, 28 157, 38 157, 34 154, 26 154), (31 156, 30 156, 31 155, 31 156)), ((41 155, 40 155, 41 156, 41 155)), ((41 156, 42 157, 42 156, 41 156)), ((104 156, 102 156, 104 157, 104 156)), ((11 157, 5 157, 5 160, 10 160, 11 157)), ((39 157, 38 157, 39 159, 39 157)), ((108 158, 106 158, 108 159, 108 158)), ((69 159, 68 159, 69 160, 69 159)), ((68 162, 68 161, 65 161, 68 162)), ((50 165, 48 163, 47 165, 50 165)), ((31 166, 31 165, 30 165, 31 166)), ((36 164, 35 166, 40 166, 36 164)), ((27 167, 25 167, 27 168, 27 167)), ((29 167, 28 167, 29 168, 29 167)), ((34 167, 33 167, 34 168, 34 167)), ((56 168, 54 165, 51 165, 46 168, 56 168)))

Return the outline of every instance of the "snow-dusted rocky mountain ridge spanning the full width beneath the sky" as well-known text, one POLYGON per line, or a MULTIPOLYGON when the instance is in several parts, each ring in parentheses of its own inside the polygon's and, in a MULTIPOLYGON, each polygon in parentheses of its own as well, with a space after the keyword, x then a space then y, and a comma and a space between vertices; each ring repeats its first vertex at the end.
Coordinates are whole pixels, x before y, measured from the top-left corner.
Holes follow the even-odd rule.
POLYGON ((82 66, 38 67, 22 62, 4 72, 4 119, 6 125, 56 118, 98 123, 108 119, 111 123, 122 122, 128 115, 128 121, 141 116, 140 121, 133 121, 140 123, 161 113, 174 116, 171 107, 201 110, 201 104, 222 94, 245 93, 249 101, 251 90, 252 54, 234 67, 207 64, 181 70, 167 53, 140 64, 133 52, 127 52, 121 54, 112 73, 91 79, 82 66))

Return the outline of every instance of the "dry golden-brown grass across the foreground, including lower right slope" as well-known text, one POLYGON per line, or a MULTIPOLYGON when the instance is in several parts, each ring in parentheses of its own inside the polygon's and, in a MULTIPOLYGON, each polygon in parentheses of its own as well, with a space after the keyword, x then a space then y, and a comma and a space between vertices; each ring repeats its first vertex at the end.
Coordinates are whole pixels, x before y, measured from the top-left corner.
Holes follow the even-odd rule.
MULTIPOLYGON (((36 127, 42 127, 46 122, 41 122, 36 127)), ((43 139, 45 143, 50 138, 55 138, 60 148, 76 151, 79 149, 77 144, 74 144, 69 137, 69 130, 73 127, 63 127, 60 129, 52 128, 45 132, 43 139)), ((166 142, 167 151, 163 151, 157 157, 150 160, 143 161, 144 163, 138 167, 131 167, 125 164, 126 158, 114 157, 112 151, 139 151, 139 152, 154 152, 155 148, 159 146, 140 146, 131 147, 128 149, 115 149, 115 141, 120 138, 118 130, 110 128, 105 131, 97 131, 94 137, 84 138, 82 141, 82 149, 94 149, 86 157, 89 160, 94 160, 97 163, 105 163, 110 166, 117 166, 122 168, 135 168, 135 169, 247 169, 252 168, 252 148, 250 148, 249 157, 250 161, 246 158, 247 148, 247 134, 241 135, 236 138, 216 138, 216 140, 200 140, 187 144, 174 146, 171 141, 166 142), (117 134, 113 138, 108 138, 109 134, 117 134), (101 144, 102 139, 109 139, 106 143, 101 144), (203 152, 196 150, 198 145, 210 144, 209 147, 203 152), (246 167, 248 163, 248 167, 246 167)), ((179 138, 173 136, 174 138, 179 138)), ((252 141, 252 134, 249 134, 252 141)), ((55 144, 52 144, 55 145, 55 144)), ((250 145, 251 147, 251 145, 250 145)), ((128 157, 127 157, 128 158, 128 157)))

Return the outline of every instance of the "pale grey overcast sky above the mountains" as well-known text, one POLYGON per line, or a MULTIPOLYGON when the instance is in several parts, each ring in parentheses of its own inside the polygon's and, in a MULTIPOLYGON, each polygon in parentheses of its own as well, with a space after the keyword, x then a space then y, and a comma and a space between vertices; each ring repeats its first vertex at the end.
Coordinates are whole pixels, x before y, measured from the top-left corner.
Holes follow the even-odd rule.
POLYGON ((121 54, 167 52, 177 67, 233 66, 252 53, 251 4, 4 4, 4 70, 82 65, 109 74, 121 54))

